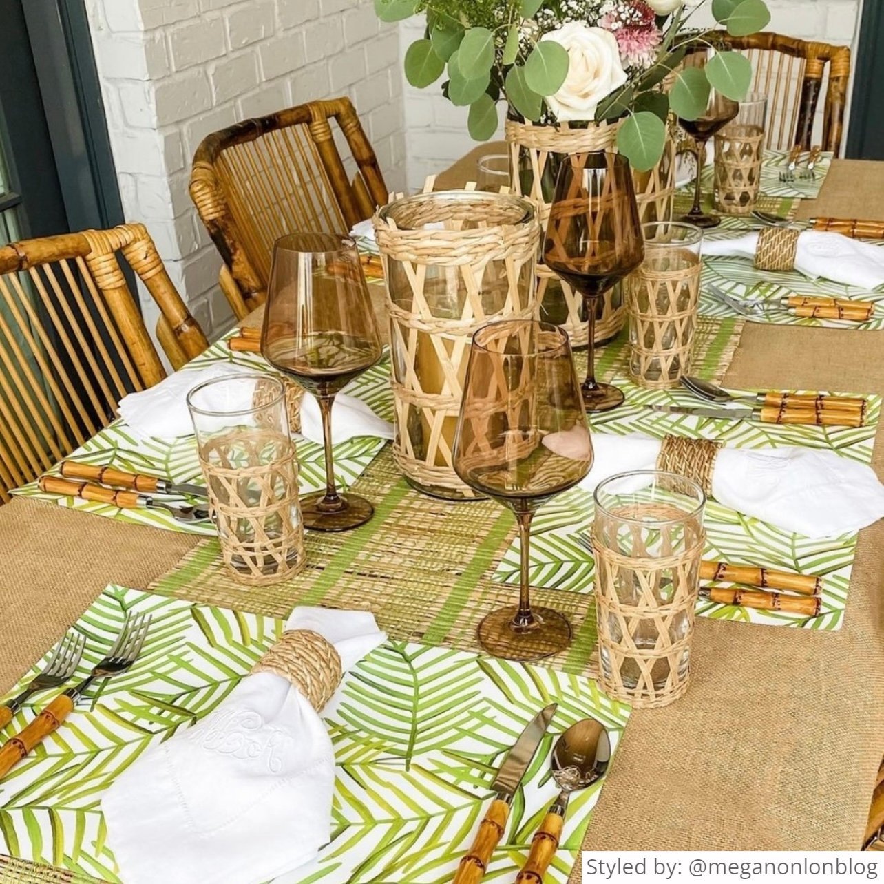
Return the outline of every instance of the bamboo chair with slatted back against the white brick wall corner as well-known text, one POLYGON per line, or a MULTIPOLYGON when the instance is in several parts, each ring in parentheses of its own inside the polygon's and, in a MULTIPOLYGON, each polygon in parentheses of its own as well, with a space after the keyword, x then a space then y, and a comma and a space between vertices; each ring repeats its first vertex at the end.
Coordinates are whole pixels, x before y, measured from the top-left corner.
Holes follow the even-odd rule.
POLYGON ((241 319, 266 297, 273 243, 292 232, 347 232, 387 200, 353 104, 310 102, 243 120, 196 149, 190 195, 224 267, 220 284, 241 319), (350 178, 338 149, 347 144, 350 178))

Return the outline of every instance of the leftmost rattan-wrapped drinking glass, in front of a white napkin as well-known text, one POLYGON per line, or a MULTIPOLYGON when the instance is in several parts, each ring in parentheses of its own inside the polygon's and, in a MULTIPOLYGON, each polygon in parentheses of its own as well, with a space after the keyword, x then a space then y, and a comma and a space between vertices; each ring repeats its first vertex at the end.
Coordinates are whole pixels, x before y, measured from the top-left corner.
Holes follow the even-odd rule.
POLYGON ((187 405, 225 565, 252 586, 297 574, 304 529, 285 385, 225 375, 194 387, 187 405))

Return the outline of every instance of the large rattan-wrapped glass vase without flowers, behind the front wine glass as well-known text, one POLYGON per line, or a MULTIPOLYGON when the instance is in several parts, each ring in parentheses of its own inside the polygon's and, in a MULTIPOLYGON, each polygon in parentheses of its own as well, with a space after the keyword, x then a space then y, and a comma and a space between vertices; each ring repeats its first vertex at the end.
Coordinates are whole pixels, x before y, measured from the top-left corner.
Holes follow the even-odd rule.
POLYGON ((443 191, 395 200, 375 217, 390 314, 393 456, 416 489, 476 493, 452 467, 473 332, 537 316, 541 227, 530 200, 443 191))

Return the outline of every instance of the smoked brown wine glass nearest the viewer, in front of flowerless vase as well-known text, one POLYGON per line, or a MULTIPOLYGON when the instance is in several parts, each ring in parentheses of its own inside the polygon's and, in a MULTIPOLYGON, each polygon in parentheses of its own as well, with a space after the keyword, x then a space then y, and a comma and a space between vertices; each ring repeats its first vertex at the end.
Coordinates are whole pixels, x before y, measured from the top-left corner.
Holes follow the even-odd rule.
POLYGON ((532 607, 531 520, 537 508, 580 482, 592 444, 568 334, 558 326, 506 320, 473 337, 454 439, 454 471, 480 494, 513 510, 522 569, 519 604, 488 614, 478 638, 506 659, 541 659, 571 641, 568 620, 532 607))

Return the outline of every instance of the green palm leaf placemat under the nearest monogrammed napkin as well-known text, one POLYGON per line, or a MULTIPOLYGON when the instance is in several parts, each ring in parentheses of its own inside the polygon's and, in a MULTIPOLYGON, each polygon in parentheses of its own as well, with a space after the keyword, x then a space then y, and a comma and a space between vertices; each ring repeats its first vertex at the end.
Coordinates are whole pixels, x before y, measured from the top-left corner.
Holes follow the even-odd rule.
MULTIPOLYGON (((88 642, 80 675, 103 656, 126 614, 136 612, 153 620, 133 669, 81 701, 0 784, 0 847, 8 856, 119 881, 100 810, 103 792, 149 745, 215 709, 283 629, 282 621, 254 613, 109 586, 74 626, 88 642)), ((616 749, 629 707, 586 678, 548 667, 397 641, 372 652, 324 711, 337 762, 333 834, 297 880, 450 880, 487 808, 494 771, 528 720, 551 702, 559 709, 514 799, 491 879, 514 878, 557 793, 548 765, 556 736, 591 715, 609 729, 616 749)), ((10 728, 34 715, 26 706, 10 728)), ((573 796, 546 880, 568 880, 603 783, 573 796)), ((51 870, 42 871, 28 867, 33 880, 54 880, 51 870)))

